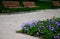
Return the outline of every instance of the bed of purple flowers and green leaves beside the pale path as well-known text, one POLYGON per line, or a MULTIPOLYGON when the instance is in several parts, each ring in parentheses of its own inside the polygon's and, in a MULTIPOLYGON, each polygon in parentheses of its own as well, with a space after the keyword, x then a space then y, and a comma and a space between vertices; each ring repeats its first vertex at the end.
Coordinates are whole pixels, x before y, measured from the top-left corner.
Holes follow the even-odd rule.
POLYGON ((60 39, 60 18, 47 19, 43 21, 33 20, 24 23, 18 33, 25 33, 31 36, 43 37, 43 39, 60 39))

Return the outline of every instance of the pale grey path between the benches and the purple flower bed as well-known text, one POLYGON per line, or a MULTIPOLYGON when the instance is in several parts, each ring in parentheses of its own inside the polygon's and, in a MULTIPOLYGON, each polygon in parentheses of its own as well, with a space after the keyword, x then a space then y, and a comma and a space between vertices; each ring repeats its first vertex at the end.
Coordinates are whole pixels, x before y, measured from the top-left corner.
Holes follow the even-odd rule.
POLYGON ((24 12, 24 14, 0 14, 0 39, 39 39, 21 33, 18 34, 16 30, 21 29, 22 23, 37 19, 44 20, 46 18, 52 18, 53 16, 60 17, 60 9, 24 12))

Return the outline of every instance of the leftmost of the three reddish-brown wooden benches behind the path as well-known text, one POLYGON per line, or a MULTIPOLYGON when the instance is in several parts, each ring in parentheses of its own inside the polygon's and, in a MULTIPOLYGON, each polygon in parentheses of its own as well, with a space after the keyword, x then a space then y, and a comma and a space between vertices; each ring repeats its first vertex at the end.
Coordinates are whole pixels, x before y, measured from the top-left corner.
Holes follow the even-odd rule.
POLYGON ((18 1, 2 1, 5 8, 21 8, 18 1))

